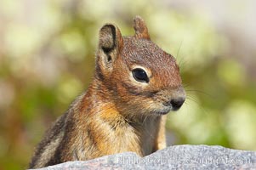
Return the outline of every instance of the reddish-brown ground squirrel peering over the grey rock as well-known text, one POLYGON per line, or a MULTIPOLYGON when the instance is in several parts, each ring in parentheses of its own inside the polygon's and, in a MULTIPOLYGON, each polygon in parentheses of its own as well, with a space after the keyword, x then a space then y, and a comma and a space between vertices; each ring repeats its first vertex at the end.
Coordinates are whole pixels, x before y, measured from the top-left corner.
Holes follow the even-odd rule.
POLYGON ((100 29, 94 79, 48 129, 30 168, 133 151, 147 156, 166 147, 169 111, 185 102, 174 57, 154 42, 140 16, 134 36, 114 24, 100 29))

